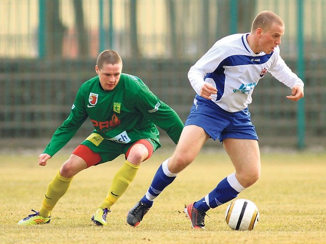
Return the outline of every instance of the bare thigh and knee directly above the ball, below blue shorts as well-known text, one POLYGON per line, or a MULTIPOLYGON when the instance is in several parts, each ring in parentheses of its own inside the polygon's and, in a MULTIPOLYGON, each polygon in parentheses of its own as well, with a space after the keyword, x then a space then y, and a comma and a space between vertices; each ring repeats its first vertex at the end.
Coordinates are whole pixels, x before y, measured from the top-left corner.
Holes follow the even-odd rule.
POLYGON ((256 181, 261 167, 258 141, 226 138, 223 145, 235 167, 236 176, 245 181, 256 181))

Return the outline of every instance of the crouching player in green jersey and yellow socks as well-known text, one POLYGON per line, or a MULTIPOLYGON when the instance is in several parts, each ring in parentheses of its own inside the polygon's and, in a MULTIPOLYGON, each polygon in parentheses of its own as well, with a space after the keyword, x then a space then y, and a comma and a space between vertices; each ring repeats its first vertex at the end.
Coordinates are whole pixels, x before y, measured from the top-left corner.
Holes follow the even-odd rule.
POLYGON ((107 196, 92 217, 95 224, 105 226, 107 213, 125 192, 140 164, 161 146, 156 126, 165 130, 174 143, 179 140, 183 129, 180 117, 140 78, 121 73, 122 59, 117 52, 101 52, 95 71, 98 76, 80 86, 70 115, 39 156, 39 165, 45 166, 88 117, 94 131, 74 149, 49 183, 39 211, 32 209, 35 213, 20 220, 19 225, 49 223, 52 209, 67 192, 74 175, 124 154, 124 165, 116 173, 107 196))

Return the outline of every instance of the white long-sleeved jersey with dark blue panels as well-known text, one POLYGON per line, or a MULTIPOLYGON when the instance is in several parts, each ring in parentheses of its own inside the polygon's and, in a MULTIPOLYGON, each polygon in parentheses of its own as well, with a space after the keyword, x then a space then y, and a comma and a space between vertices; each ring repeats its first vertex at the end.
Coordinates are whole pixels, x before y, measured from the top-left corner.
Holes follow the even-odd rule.
POLYGON ((290 88, 304 86, 281 58, 279 47, 270 54, 256 54, 249 47, 248 35, 234 34, 217 41, 188 72, 197 94, 204 82, 212 84, 218 94, 211 95, 211 101, 229 112, 248 107, 255 86, 267 71, 290 88))

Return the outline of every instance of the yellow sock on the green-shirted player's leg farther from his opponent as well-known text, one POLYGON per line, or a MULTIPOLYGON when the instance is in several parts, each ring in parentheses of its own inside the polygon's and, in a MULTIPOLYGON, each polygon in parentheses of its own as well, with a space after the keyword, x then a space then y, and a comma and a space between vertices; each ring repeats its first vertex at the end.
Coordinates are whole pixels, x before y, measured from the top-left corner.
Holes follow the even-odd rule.
POLYGON ((55 207, 59 199, 68 191, 72 178, 63 177, 60 174, 60 170, 58 170, 56 176, 47 187, 40 209, 40 216, 46 218, 51 215, 53 207, 55 207))

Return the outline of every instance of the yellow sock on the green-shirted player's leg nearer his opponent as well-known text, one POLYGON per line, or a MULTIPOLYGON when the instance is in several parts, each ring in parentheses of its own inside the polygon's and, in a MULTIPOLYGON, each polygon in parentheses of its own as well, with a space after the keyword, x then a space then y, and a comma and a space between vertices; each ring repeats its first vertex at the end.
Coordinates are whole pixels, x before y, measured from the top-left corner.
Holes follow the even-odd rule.
POLYGON ((118 170, 113 178, 111 188, 108 190, 107 196, 100 208, 108 208, 118 201, 121 195, 125 192, 130 182, 136 176, 140 165, 133 165, 128 161, 125 161, 124 165, 118 170))

